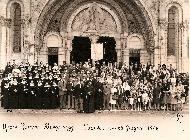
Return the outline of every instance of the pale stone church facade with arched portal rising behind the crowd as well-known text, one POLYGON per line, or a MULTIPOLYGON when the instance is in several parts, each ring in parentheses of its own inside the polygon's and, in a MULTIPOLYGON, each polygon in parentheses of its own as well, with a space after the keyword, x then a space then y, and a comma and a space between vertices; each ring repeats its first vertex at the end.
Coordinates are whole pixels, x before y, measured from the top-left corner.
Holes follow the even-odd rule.
POLYGON ((72 63, 82 60, 74 50, 87 52, 73 44, 108 43, 117 63, 188 72, 188 6, 188 0, 2 0, 0 69, 13 60, 72 63))

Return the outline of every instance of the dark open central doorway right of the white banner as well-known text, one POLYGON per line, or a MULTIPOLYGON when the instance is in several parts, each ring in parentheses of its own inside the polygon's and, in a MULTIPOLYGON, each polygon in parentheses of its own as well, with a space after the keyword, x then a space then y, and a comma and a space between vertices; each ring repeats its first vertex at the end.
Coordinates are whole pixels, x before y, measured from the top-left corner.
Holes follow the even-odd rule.
POLYGON ((106 64, 117 62, 116 42, 113 37, 100 37, 97 43, 103 43, 104 59, 106 64))

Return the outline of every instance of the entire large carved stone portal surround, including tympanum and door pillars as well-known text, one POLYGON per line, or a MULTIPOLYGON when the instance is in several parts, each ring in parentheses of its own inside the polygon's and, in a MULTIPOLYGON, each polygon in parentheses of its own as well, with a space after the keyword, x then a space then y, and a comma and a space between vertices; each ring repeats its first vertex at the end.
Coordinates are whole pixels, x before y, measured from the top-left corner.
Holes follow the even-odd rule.
POLYGON ((47 4, 37 22, 35 44, 42 48, 43 38, 48 31, 59 32, 63 37, 65 50, 62 55, 66 63, 74 59, 71 39, 74 36, 117 38, 118 62, 122 62, 124 57, 129 56, 129 51, 124 54, 123 48, 126 46, 122 40, 130 33, 143 34, 145 47, 151 50, 154 46, 154 30, 146 9, 142 7, 139 0, 123 1, 123 3, 125 4, 114 0, 66 0, 47 4))

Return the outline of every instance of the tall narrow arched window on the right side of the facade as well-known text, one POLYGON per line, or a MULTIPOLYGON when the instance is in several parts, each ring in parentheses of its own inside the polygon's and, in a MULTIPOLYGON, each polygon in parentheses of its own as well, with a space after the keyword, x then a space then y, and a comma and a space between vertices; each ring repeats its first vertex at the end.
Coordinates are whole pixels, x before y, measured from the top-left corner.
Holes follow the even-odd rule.
POLYGON ((167 55, 176 55, 176 48, 178 47, 178 9, 172 6, 168 10, 168 43, 167 55))

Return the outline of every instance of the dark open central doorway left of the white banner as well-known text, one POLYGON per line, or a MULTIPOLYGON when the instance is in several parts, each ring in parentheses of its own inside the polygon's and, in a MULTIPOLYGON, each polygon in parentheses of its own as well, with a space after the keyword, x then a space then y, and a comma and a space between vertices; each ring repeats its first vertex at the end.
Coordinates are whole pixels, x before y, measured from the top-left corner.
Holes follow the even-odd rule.
POLYGON ((71 63, 84 63, 91 59, 91 42, 88 37, 75 36, 72 41, 71 63))

